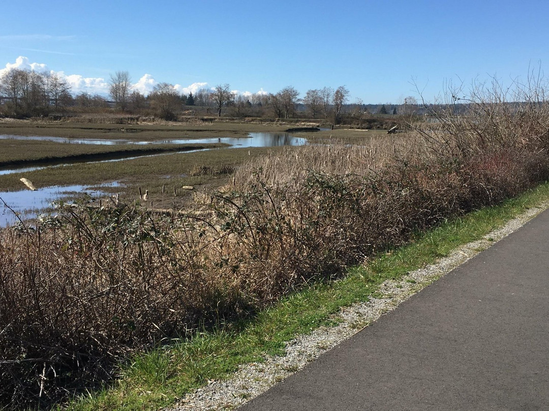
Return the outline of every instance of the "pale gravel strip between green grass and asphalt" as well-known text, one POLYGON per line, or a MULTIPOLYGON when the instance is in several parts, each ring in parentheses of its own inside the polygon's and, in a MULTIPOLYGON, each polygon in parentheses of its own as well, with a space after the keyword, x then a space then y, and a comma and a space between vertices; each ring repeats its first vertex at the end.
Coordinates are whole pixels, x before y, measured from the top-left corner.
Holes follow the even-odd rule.
POLYGON ((210 381, 208 385, 188 393, 175 406, 164 411, 231 410, 242 406, 376 321, 381 315, 395 309, 402 301, 439 277, 516 231, 547 208, 549 203, 530 208, 526 213, 508 221, 501 229, 491 232, 479 241, 457 248, 450 256, 435 264, 412 271, 404 279, 385 281, 379 289, 382 298, 370 298, 368 302, 341 308, 336 315, 339 319, 338 325, 321 327, 311 334, 297 336, 286 344, 284 357, 268 356, 265 357, 265 362, 242 365, 229 379, 210 381))

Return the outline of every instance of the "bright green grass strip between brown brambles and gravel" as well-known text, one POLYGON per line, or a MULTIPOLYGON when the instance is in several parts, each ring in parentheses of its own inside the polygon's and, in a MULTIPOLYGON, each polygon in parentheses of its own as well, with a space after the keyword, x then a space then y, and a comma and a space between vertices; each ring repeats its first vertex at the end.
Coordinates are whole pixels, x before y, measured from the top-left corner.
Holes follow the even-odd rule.
POLYGON ((222 379, 239 364, 261 361, 266 354, 284 354, 284 343, 333 323, 340 307, 367 301, 386 279, 399 279, 444 257, 452 249, 478 240, 507 220, 549 199, 549 184, 495 207, 481 209, 415 236, 409 245, 395 248, 348 275, 310 287, 284 298, 253 318, 203 330, 186 341, 172 340, 153 352, 121 366, 120 378, 102 391, 68 404, 71 410, 153 410, 169 406, 192 388, 222 379))

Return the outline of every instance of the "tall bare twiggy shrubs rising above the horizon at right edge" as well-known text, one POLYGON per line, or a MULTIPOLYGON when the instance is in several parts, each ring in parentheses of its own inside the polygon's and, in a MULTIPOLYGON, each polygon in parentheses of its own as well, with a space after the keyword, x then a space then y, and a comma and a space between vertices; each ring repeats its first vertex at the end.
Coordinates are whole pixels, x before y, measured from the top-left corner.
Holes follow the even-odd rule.
POLYGON ((508 87, 497 79, 474 82, 468 91, 450 84, 444 103, 425 104, 432 121, 414 128, 431 149, 451 155, 546 149, 549 102, 544 83, 530 73, 525 84, 514 81, 508 87))

